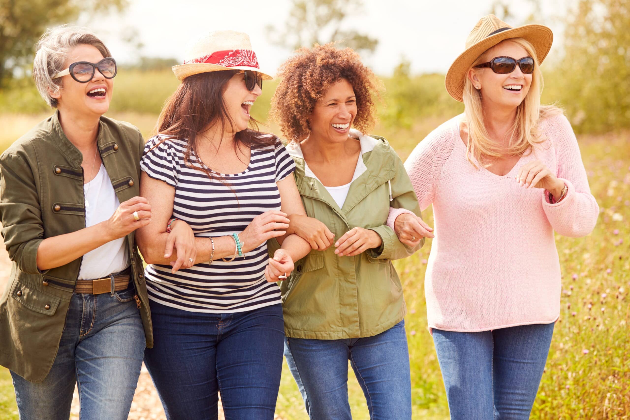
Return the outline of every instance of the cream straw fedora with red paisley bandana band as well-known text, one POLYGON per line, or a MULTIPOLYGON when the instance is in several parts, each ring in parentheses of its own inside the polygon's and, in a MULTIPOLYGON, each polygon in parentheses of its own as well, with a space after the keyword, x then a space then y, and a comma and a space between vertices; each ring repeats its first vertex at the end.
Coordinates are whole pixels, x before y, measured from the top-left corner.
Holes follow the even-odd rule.
POLYGON ((251 70, 265 80, 273 79, 260 70, 249 35, 236 31, 210 32, 193 44, 184 64, 173 65, 173 72, 180 80, 193 74, 224 70, 251 70))

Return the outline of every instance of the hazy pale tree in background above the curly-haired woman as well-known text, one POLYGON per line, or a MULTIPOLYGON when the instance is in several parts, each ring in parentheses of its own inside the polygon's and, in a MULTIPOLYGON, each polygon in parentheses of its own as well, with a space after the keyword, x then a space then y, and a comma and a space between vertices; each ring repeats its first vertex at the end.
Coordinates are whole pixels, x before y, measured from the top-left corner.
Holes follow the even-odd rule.
POLYGON ((276 45, 291 50, 337 42, 340 47, 374 52, 378 40, 357 30, 343 29, 347 18, 362 8, 362 0, 293 0, 284 30, 268 25, 267 36, 276 45))

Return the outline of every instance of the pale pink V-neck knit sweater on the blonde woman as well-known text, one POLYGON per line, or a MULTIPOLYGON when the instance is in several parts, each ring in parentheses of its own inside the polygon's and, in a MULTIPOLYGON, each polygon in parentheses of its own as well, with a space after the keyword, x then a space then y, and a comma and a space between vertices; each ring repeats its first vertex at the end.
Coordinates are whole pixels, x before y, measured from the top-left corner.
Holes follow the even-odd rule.
MULTIPOLYGON (((467 161, 460 119, 430 133, 404 164, 421 209, 433 204, 428 326, 473 332, 554 322, 561 292, 554 230, 586 236, 599 215, 573 129, 563 115, 542 121, 547 140, 498 176, 467 161), (566 183, 564 200, 551 204, 547 191, 518 185, 518 169, 536 159, 566 183)), ((390 227, 401 212, 390 211, 390 227)))

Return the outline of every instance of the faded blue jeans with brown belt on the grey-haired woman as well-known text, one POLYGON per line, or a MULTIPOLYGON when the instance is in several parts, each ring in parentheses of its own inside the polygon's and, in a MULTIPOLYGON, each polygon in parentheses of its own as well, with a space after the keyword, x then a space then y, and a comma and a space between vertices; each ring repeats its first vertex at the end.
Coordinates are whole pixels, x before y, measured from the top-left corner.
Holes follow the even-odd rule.
POLYGON ((81 419, 127 419, 145 348, 134 293, 130 285, 115 293, 72 295, 47 377, 33 383, 11 372, 21 420, 67 420, 75 383, 81 419))

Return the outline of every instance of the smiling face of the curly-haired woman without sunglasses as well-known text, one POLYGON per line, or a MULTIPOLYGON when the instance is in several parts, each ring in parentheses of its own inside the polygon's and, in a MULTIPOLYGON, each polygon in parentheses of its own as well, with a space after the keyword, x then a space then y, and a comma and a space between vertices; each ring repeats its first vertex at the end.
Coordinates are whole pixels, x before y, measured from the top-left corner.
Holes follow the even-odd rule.
POLYGON ((330 142, 345 142, 357 116, 357 98, 346 79, 334 82, 318 99, 309 118, 311 135, 330 142))

